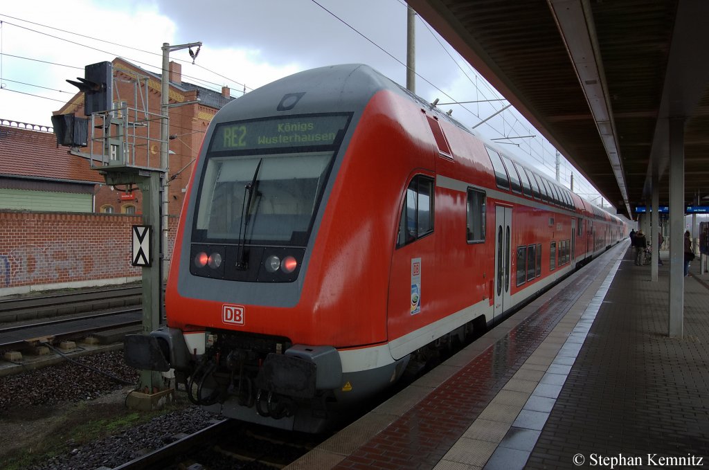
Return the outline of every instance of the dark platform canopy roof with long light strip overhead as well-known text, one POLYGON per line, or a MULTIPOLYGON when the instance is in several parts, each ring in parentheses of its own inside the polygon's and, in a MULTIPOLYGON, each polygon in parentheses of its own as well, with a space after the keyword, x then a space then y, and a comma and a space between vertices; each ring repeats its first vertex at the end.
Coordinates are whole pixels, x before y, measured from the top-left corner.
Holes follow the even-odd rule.
POLYGON ((408 4, 626 216, 652 202, 653 172, 669 204, 683 119, 685 202, 709 205, 709 1, 408 4))

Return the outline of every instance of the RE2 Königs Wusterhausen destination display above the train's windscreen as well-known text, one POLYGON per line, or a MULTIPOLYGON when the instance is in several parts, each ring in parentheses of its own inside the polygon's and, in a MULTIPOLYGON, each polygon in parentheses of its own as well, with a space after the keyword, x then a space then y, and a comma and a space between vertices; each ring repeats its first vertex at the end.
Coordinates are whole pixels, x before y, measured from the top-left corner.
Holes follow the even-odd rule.
POLYGON ((289 116, 218 125, 210 152, 334 145, 350 116, 289 116))

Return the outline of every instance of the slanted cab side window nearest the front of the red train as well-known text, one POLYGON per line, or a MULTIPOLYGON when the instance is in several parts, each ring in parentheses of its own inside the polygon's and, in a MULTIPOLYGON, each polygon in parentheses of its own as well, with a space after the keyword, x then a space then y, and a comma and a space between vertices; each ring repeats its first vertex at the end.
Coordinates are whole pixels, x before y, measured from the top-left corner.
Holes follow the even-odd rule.
POLYGON ((396 245, 403 247, 432 231, 433 179, 418 175, 406 189, 396 245))

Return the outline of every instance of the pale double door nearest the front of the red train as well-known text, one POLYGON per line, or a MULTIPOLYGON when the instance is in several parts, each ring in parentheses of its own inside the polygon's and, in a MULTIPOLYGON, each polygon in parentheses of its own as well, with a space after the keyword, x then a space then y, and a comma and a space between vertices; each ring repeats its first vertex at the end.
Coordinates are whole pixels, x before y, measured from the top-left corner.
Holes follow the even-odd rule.
POLYGON ((510 257, 512 255, 512 208, 495 206, 495 311, 494 318, 512 305, 510 257))

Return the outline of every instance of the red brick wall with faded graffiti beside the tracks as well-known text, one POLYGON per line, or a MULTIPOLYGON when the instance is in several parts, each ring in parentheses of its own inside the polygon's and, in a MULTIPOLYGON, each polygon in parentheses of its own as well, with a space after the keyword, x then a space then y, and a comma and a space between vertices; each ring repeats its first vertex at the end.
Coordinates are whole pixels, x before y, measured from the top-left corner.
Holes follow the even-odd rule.
MULTIPOLYGON (((141 223, 140 216, 121 214, 0 211, 0 295, 23 286, 140 276, 130 256, 131 225, 141 223)), ((177 218, 170 218, 170 228, 172 252, 177 218)))

